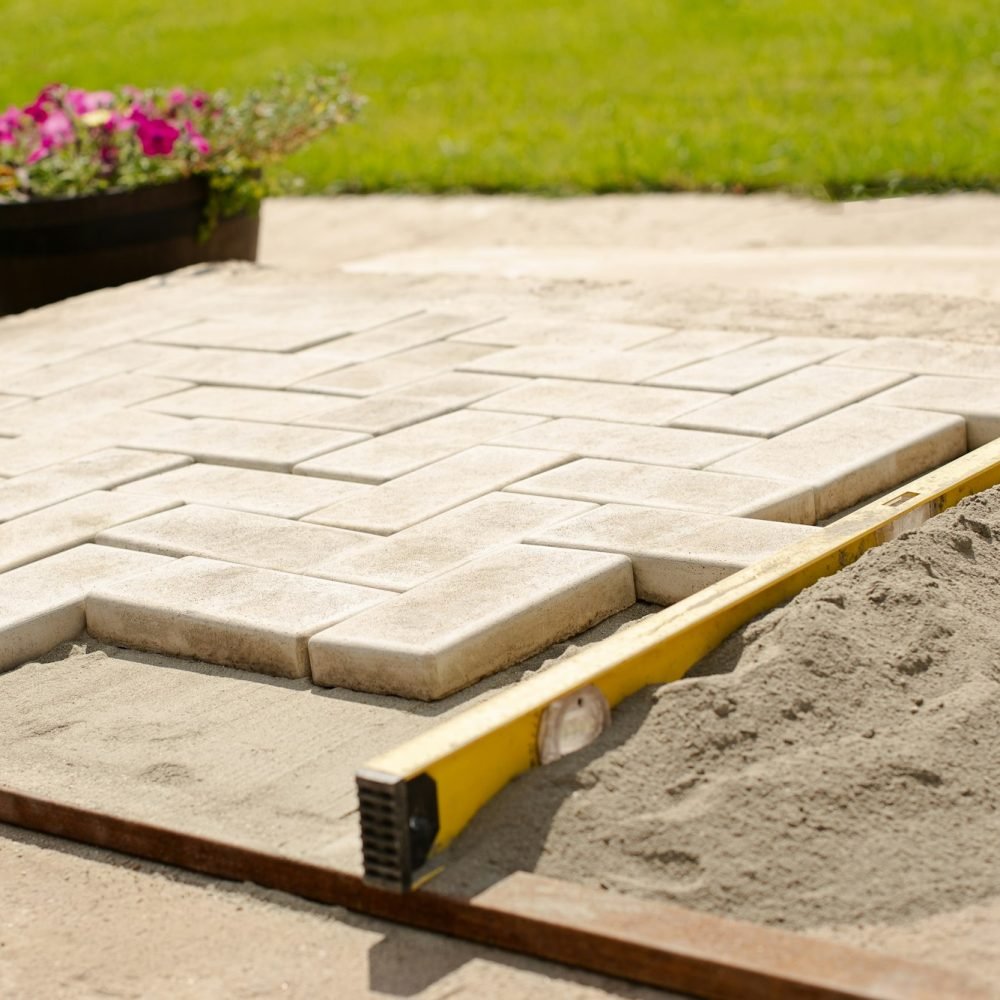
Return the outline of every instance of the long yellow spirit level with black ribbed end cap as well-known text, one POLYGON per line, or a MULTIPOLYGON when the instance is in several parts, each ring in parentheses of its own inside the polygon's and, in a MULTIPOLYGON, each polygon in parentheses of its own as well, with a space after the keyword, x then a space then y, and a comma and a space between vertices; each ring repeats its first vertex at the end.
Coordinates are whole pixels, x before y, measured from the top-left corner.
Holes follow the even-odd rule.
POLYGON ((509 781, 539 765, 549 706, 596 689, 613 707, 642 687, 678 680, 757 615, 998 483, 1000 439, 369 761, 357 774, 366 878, 405 892, 433 877, 433 856, 509 781))

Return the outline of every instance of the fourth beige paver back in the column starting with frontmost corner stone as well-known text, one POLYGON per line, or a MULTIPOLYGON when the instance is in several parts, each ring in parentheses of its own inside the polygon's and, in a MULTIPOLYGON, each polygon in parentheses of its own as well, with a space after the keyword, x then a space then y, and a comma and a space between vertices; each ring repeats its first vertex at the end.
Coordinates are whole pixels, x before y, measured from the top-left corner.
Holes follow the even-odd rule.
POLYGON ((542 420, 513 413, 460 410, 321 455, 296 465, 294 471, 299 475, 384 483, 542 420))

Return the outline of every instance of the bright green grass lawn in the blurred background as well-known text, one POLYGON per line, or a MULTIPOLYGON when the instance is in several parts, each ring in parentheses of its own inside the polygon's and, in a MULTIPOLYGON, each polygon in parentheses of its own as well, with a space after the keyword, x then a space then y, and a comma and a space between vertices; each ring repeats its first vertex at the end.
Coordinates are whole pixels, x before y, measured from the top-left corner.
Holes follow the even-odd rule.
POLYGON ((3 0, 0 106, 343 61, 309 191, 1000 187, 997 0, 3 0))

